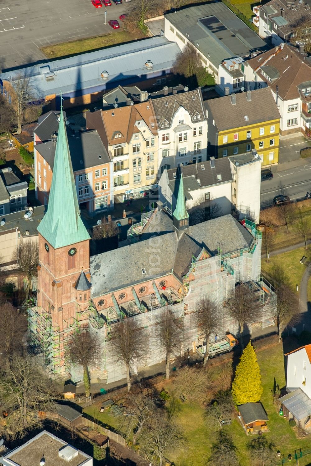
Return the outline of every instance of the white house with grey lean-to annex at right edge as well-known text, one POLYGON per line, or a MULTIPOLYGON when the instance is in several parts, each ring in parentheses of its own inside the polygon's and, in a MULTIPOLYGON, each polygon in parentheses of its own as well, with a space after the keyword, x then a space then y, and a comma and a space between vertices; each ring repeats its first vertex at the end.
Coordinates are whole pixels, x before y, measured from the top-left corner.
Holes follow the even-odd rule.
POLYGON ((287 418, 297 425, 311 427, 311 345, 294 349, 287 356, 286 391, 279 398, 281 409, 287 418))

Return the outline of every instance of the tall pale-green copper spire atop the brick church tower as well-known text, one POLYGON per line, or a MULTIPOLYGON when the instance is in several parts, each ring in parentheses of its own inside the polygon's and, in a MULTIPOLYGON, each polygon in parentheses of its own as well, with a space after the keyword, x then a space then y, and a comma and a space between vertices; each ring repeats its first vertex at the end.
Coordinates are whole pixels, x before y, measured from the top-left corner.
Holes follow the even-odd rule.
POLYGON ((80 217, 63 104, 60 111, 48 210, 37 230, 55 249, 90 239, 80 217))

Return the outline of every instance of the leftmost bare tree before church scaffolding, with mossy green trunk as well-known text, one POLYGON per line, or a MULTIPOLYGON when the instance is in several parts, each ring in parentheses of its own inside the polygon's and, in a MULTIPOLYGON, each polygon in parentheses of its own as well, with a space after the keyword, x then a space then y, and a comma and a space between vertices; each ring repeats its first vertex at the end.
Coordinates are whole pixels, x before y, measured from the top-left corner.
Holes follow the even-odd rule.
POLYGON ((98 336, 90 333, 88 329, 75 333, 68 345, 67 353, 71 363, 83 367, 85 396, 89 397, 91 391, 89 368, 99 360, 100 344, 98 336))

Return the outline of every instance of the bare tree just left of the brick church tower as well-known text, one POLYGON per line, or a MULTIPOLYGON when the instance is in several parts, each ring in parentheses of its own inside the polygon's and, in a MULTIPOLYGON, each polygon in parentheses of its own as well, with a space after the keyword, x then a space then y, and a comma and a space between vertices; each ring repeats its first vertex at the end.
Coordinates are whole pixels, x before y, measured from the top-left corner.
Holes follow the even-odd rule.
POLYGON ((32 279, 37 276, 39 265, 39 246, 36 240, 24 240, 21 243, 20 251, 16 251, 15 259, 18 267, 26 275, 26 303, 29 297, 29 290, 32 279))

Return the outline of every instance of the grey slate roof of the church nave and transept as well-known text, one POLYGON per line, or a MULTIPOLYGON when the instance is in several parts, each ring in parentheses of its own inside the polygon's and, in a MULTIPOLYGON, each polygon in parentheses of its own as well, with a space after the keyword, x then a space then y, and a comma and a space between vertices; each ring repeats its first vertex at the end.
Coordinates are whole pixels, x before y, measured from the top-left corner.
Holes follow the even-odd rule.
POLYGON ((181 280, 189 271, 192 255, 198 257, 203 247, 210 254, 217 254, 219 246, 226 254, 253 243, 252 235, 232 215, 190 226, 179 240, 172 232, 172 219, 163 211, 155 211, 154 215, 156 219, 151 217, 141 241, 116 249, 113 254, 110 251, 90 258, 92 298, 172 272, 181 280), (157 233, 154 233, 155 224, 160 229, 157 233), (161 248, 157 249, 160 264, 157 268, 151 267, 148 259, 151 231, 153 237, 162 233, 161 248), (120 274, 120 268, 123 274, 120 274))

